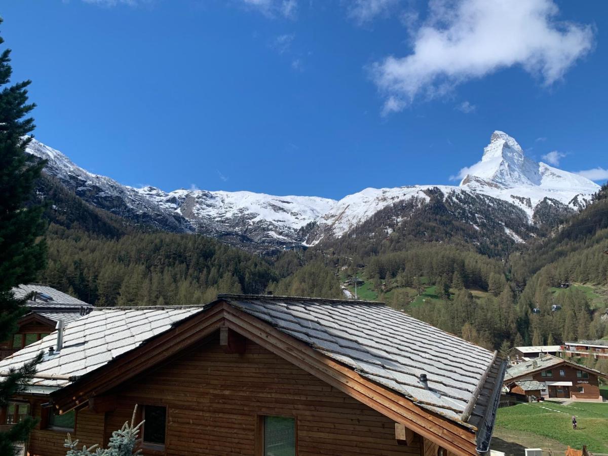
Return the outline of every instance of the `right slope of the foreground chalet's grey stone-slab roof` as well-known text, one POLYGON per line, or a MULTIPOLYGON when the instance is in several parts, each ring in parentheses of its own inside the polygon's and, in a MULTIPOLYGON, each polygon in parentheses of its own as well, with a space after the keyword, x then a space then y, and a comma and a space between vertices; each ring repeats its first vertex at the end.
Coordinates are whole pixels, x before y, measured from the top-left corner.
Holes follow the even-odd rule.
POLYGON ((218 299, 461 424, 480 427, 493 405, 492 393, 502 386, 496 352, 382 303, 244 295, 218 299), (427 375, 428 387, 421 374, 427 375))

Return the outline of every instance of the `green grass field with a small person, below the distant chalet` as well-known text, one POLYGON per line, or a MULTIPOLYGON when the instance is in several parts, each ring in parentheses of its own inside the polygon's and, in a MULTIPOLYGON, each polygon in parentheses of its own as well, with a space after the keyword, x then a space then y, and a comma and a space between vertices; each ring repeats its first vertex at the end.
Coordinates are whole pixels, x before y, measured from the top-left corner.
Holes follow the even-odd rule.
MULTIPOLYGON (((606 390, 605 390, 606 391, 606 390)), ((499 430, 536 434, 589 451, 608 452, 608 404, 598 402, 558 402, 519 404, 499 409, 496 418, 499 430), (578 429, 572 429, 572 415, 576 416, 578 429)))

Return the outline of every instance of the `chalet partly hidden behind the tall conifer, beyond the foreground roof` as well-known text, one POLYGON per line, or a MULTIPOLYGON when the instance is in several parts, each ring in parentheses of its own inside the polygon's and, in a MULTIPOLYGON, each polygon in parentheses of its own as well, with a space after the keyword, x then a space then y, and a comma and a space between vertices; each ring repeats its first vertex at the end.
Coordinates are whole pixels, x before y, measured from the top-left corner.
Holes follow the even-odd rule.
POLYGON ((0 343, 0 359, 48 336, 55 331, 59 320, 67 325, 93 309, 91 304, 46 285, 19 285, 12 291, 16 299, 25 299, 30 294, 32 297, 24 303, 29 312, 17 322, 19 330, 11 339, 0 343))

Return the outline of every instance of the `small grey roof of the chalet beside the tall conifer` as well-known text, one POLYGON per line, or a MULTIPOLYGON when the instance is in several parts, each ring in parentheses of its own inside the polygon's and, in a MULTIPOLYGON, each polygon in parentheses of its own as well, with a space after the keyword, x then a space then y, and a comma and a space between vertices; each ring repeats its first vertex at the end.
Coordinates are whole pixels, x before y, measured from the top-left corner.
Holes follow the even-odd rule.
POLYGON ((47 285, 29 283, 16 286, 12 291, 17 299, 24 299, 30 293, 36 292, 38 297, 28 299, 25 305, 30 308, 30 313, 40 315, 52 322, 63 320, 71 323, 82 317, 85 311, 94 308, 89 303, 47 285))

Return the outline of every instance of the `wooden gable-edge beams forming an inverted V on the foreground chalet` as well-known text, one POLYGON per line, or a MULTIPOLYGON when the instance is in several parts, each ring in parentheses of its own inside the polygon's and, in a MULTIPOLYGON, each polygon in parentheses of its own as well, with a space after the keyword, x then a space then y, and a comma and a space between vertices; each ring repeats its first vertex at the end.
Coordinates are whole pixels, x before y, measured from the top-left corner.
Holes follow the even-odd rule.
MULTIPOLYGON (((459 426, 385 387, 376 385, 358 375, 351 368, 340 365, 303 342, 235 309, 226 302, 216 303, 204 313, 195 314, 165 333, 148 340, 146 344, 136 350, 125 353, 109 362, 105 367, 83 376, 74 384, 53 393, 51 401, 55 408, 63 413, 86 404, 95 396, 103 396, 110 390, 120 390, 125 381, 174 359, 182 351, 192 348, 221 328, 232 330, 246 337, 247 340, 255 342, 260 347, 390 418, 393 424, 403 424, 421 437, 457 454, 477 454, 475 433, 471 429, 459 426)), ((224 340, 230 345, 227 334, 224 340)), ((228 353, 233 350, 237 354, 240 350, 238 342, 234 340, 228 353)), ((224 347, 224 351, 226 351, 226 347, 224 347)))

